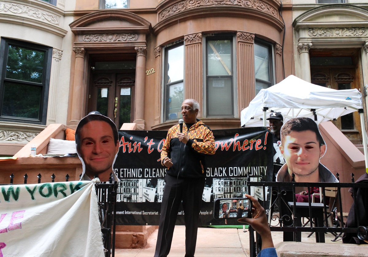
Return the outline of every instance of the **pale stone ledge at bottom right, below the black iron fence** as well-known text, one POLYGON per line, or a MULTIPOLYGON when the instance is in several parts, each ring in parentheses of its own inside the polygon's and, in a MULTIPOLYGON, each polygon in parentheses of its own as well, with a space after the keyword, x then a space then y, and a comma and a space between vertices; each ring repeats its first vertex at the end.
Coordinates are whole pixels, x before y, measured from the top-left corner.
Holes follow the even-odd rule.
POLYGON ((279 257, 363 257, 367 256, 367 244, 281 242, 276 245, 279 257))

